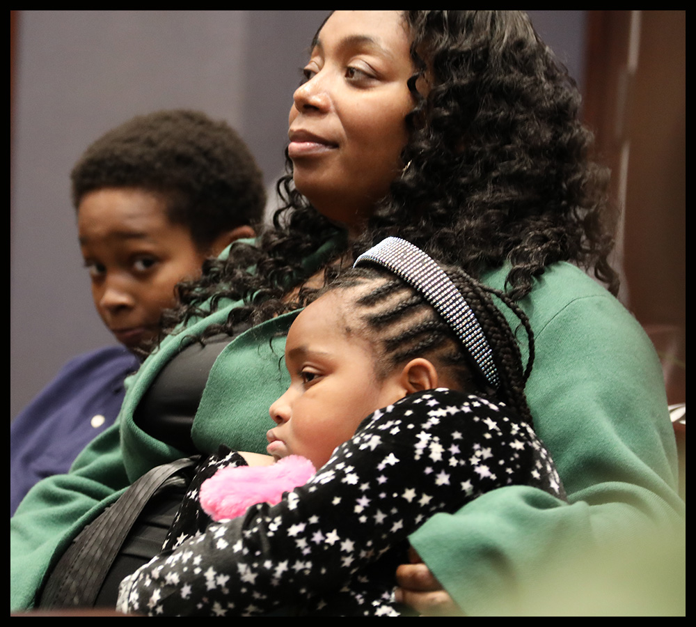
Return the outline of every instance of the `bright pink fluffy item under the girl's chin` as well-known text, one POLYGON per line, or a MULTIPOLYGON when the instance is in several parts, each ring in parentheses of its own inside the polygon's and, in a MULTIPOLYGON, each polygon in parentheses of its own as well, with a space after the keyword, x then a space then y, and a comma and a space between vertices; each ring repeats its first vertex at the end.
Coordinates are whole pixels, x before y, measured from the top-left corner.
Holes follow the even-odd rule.
POLYGON ((279 503, 283 493, 303 486, 315 472, 312 462, 299 455, 270 466, 221 468, 200 486, 200 504, 213 520, 237 518, 257 503, 279 503))

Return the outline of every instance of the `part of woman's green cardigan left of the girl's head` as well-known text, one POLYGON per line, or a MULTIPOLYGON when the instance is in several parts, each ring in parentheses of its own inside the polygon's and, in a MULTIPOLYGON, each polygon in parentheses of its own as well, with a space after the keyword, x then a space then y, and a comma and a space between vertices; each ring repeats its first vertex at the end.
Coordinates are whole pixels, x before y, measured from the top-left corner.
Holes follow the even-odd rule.
MULTIPOLYGON (((309 255, 302 264, 304 273, 310 275, 321 268, 343 237, 339 233, 309 255)), ((228 250, 223 251, 221 258, 227 254, 228 250)), ((88 445, 69 474, 40 481, 22 501, 10 522, 13 610, 33 606, 54 556, 62 555, 77 532, 127 486, 151 468, 182 457, 174 447, 141 431, 134 424, 134 410, 182 341, 222 323, 237 305, 239 302, 221 303, 209 316, 192 320, 186 332, 166 338, 127 380, 116 424, 88 445)), ((265 450, 265 434, 271 426, 268 408, 287 388, 281 360, 284 335, 295 315, 278 316, 248 330, 216 360, 193 422, 193 441, 201 452, 212 452, 221 443, 238 450, 265 450)))

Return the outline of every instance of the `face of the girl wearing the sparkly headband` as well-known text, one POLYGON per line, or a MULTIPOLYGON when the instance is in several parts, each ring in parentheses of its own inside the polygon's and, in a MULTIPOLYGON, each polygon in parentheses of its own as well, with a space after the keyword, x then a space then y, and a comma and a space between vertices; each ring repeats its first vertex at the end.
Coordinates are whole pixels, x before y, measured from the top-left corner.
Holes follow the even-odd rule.
POLYGON ((332 291, 297 316, 285 343, 290 387, 269 410, 269 455, 301 455, 324 465, 335 447, 377 410, 406 395, 400 369, 378 380, 374 354, 360 330, 347 322, 352 300, 332 291))

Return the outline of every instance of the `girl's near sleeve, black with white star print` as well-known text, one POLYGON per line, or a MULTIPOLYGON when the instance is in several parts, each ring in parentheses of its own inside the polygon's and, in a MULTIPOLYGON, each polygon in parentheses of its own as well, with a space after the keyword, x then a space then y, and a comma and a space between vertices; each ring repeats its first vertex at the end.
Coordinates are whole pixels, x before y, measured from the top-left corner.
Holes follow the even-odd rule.
POLYGON ((350 586, 437 511, 510 483, 560 495, 534 433, 505 408, 448 390, 374 412, 310 481, 275 506, 156 557, 121 586, 120 609, 258 615, 350 586))

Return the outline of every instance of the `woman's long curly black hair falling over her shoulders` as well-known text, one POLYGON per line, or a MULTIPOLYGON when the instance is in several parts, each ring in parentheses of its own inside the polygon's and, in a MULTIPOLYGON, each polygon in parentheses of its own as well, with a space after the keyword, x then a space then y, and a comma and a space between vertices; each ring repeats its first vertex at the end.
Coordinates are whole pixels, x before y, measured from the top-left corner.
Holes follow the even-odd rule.
MULTIPOLYGON (((578 117, 576 84, 527 15, 406 11, 404 20, 415 102, 406 117, 404 171, 363 233, 352 241, 344 233, 326 267, 349 265, 397 235, 473 277, 508 263, 506 289, 515 300, 556 261, 594 268, 616 293, 617 274, 608 263, 615 224, 608 171, 590 160, 593 138, 578 117)), ((283 206, 273 228, 258 247, 233 247, 228 261, 184 286, 184 307, 172 322, 201 314, 206 299, 206 307, 216 307, 221 297, 246 298, 228 324, 212 330, 230 332, 239 320, 258 322, 311 299, 311 291, 300 291, 285 302, 292 281, 307 278, 303 259, 340 229, 294 188, 285 154, 287 174, 278 182, 283 206), (252 265, 255 274, 244 272, 252 265)))

